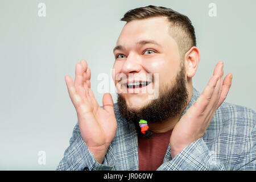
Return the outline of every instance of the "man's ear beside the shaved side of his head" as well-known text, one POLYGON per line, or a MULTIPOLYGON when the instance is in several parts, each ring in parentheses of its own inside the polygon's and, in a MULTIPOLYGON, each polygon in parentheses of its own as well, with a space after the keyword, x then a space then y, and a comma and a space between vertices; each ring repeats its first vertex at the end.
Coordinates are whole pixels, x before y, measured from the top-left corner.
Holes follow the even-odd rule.
POLYGON ((200 53, 197 47, 191 47, 187 53, 185 53, 185 66, 187 77, 191 78, 196 74, 197 65, 200 61, 200 53))

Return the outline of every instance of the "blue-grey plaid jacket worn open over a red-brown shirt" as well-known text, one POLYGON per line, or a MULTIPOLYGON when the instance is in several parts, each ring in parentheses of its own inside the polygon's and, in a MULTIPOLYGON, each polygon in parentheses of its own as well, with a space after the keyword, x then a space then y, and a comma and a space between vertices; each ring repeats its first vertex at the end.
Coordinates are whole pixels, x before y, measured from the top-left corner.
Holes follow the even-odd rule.
MULTIPOLYGON (((200 93, 193 95, 181 117, 195 103, 200 93)), ((57 170, 138 170, 138 134, 133 123, 127 122, 114 104, 117 132, 99 164, 82 140, 76 124, 69 147, 57 170)), ((254 110, 224 102, 216 112, 202 138, 184 148, 174 159, 170 145, 158 170, 255 170, 256 114, 254 110)))

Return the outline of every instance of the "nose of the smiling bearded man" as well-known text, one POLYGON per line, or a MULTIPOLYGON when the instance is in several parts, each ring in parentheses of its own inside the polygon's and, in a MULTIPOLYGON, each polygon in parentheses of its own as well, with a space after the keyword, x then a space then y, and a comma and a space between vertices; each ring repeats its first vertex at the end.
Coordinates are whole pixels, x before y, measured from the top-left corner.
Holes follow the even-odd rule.
POLYGON ((125 63, 123 63, 122 73, 128 75, 129 73, 139 73, 142 69, 141 59, 135 53, 129 53, 125 63))

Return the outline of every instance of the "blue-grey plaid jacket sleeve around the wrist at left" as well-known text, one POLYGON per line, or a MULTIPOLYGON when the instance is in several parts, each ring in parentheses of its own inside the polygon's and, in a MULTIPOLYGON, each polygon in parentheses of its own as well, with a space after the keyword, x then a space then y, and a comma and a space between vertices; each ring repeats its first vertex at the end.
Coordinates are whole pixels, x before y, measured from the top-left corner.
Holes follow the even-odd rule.
POLYGON ((65 150, 63 159, 57 166, 57 171, 82 171, 86 170, 112 170, 114 168, 114 155, 110 145, 104 162, 99 164, 88 150, 86 143, 81 137, 79 124, 73 129, 72 137, 69 140, 69 147, 65 150))

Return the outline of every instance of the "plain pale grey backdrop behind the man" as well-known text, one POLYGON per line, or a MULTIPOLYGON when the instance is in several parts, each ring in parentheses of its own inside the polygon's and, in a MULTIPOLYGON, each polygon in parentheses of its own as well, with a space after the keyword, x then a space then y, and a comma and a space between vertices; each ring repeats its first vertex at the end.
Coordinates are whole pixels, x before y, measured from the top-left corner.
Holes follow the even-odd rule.
MULTIPOLYGON (((166 6, 187 15, 195 26, 201 53, 193 86, 203 92, 218 61, 233 73, 226 102, 255 104, 256 1, 0 1, 0 169, 55 170, 77 122, 64 76, 86 59, 97 76, 114 63, 112 53, 124 22, 135 7, 166 6), (46 4, 46 17, 38 4, 46 4), (208 15, 209 3, 217 16, 208 15), (46 165, 38 164, 46 151, 46 165)), ((94 92, 102 104, 103 94, 94 92)), ((114 101, 115 94, 112 94, 114 101)))

